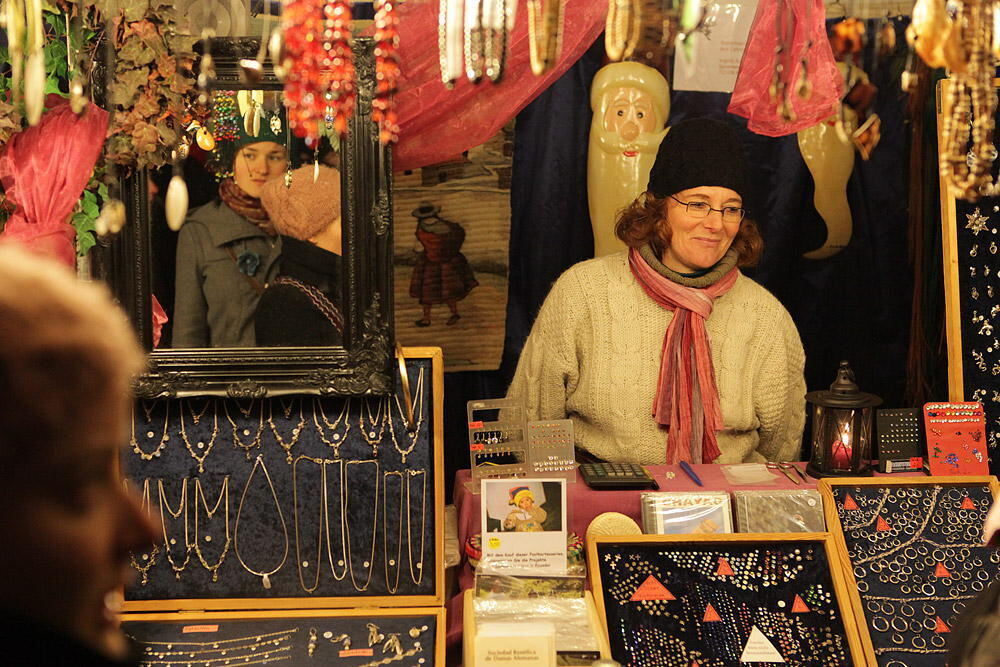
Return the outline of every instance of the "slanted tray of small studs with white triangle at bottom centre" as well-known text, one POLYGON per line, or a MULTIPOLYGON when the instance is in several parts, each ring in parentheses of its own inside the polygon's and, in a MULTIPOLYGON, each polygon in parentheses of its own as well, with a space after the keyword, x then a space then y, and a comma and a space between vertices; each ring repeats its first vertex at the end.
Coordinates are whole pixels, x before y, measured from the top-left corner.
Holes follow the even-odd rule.
POLYGON ((623 665, 864 665, 829 533, 598 536, 590 580, 623 665))

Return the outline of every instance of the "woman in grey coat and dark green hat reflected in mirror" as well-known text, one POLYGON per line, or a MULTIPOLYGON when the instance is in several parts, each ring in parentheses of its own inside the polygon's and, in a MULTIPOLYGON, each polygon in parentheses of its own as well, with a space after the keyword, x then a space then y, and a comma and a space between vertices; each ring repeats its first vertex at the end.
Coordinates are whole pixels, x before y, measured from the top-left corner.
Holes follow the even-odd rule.
POLYGON ((177 238, 173 346, 254 347, 254 314, 278 274, 281 238, 260 201, 288 167, 283 137, 269 124, 256 136, 242 127, 233 177, 219 199, 191 211, 177 238))

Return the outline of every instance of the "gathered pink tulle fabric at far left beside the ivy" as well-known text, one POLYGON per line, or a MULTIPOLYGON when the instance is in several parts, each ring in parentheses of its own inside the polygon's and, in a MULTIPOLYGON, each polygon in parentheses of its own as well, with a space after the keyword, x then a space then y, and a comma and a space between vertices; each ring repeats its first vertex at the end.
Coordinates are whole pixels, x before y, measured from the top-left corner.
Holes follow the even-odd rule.
POLYGON ((108 113, 90 104, 77 117, 62 102, 35 127, 11 137, 0 154, 0 182, 17 205, 3 238, 69 266, 76 263, 76 230, 68 222, 104 146, 108 113))

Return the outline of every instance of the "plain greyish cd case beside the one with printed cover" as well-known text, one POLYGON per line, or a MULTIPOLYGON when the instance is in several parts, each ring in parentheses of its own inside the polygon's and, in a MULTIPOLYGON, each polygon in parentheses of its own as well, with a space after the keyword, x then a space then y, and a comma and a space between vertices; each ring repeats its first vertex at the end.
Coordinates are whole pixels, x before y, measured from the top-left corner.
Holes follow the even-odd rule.
POLYGON ((822 533, 823 498, 815 489, 733 491, 740 533, 822 533))

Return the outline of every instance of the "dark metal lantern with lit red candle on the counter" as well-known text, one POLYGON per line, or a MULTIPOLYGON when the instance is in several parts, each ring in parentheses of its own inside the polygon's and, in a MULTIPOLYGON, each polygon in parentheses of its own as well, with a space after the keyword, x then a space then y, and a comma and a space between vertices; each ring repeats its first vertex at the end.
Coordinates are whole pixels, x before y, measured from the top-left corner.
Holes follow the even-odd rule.
POLYGON ((873 408, 882 404, 854 382, 854 371, 840 362, 829 390, 806 394, 812 411, 812 457, 806 470, 813 477, 871 475, 873 408))

